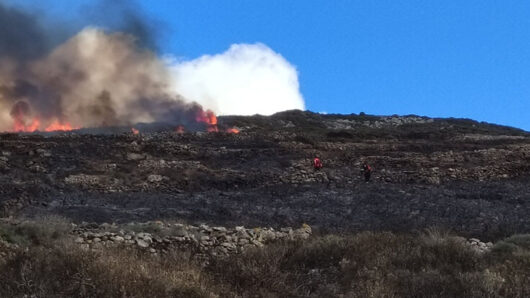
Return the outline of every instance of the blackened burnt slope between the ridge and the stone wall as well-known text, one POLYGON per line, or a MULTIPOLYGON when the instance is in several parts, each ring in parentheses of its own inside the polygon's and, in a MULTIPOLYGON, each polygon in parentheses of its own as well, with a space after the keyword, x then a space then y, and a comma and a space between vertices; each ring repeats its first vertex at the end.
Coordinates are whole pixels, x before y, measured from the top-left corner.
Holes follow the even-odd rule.
POLYGON ((530 135, 465 119, 221 117, 240 134, 0 135, 0 215, 530 232, 530 135), (311 159, 322 158, 314 171, 311 159), (373 179, 360 177, 362 161, 373 179))

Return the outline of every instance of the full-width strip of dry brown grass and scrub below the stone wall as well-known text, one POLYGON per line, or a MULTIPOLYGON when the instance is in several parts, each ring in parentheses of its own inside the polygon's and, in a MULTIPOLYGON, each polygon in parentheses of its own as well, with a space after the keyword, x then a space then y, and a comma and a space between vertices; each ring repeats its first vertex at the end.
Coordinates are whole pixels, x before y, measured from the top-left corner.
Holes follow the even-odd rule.
POLYGON ((11 250, 0 258, 0 297, 530 297, 529 235, 486 254, 439 230, 328 235, 202 267, 186 251, 85 251, 53 232, 28 241, 30 226, 3 233, 20 246, 0 245, 11 250))

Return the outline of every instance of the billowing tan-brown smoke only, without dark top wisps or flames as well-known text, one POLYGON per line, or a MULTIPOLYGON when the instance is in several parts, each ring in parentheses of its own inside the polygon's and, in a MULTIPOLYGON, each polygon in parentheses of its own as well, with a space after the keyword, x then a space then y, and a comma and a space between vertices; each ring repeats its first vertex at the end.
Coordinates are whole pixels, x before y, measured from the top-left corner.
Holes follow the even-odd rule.
POLYGON ((7 73, 0 78, 1 130, 10 130, 14 121, 31 126, 35 118, 40 129, 53 122, 73 127, 186 124, 200 110, 172 90, 167 66, 152 52, 138 50, 132 36, 95 28, 28 63, 23 77, 7 73), (30 108, 21 109, 19 102, 30 108))

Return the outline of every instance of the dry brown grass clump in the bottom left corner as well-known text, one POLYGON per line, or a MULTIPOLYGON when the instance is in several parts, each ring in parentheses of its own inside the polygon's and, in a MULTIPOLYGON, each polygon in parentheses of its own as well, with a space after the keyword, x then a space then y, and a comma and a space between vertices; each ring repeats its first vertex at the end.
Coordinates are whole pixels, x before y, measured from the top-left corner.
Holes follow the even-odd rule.
POLYGON ((185 253, 94 252, 64 242, 20 250, 2 265, 0 279, 2 297, 208 297, 185 253))

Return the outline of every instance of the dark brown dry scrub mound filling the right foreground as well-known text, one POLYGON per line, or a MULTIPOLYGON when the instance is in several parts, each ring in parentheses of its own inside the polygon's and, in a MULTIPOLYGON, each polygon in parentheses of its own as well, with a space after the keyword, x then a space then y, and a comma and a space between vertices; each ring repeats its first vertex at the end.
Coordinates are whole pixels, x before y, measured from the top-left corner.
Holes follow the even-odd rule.
MULTIPOLYGON (((523 249, 523 248, 521 248, 523 249)), ((530 258, 479 255, 460 238, 361 233, 283 243, 217 260, 215 279, 242 296, 528 297, 530 258)))

